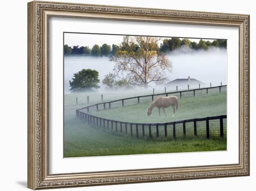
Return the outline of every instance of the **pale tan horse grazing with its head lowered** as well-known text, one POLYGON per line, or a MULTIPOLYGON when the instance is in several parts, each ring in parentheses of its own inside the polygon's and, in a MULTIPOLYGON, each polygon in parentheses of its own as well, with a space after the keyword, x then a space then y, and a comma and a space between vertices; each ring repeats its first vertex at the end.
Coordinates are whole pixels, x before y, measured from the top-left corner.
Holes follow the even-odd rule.
POLYGON ((176 115, 176 112, 177 112, 178 106, 179 106, 177 96, 158 97, 157 99, 152 101, 152 103, 149 105, 148 115, 151 115, 152 110, 153 110, 154 107, 158 107, 159 116, 161 116, 160 115, 160 108, 162 108, 165 116, 167 116, 164 108, 169 107, 169 106, 173 107, 173 117, 174 117, 176 115))

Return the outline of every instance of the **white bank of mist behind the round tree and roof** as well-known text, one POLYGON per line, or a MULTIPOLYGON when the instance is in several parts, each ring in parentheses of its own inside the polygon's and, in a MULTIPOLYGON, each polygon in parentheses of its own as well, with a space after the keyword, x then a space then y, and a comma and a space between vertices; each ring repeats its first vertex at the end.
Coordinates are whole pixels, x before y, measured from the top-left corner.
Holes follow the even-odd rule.
MULTIPOLYGON (((208 50, 194 50, 181 47, 178 50, 168 53, 168 59, 172 63, 172 72, 167 72, 168 82, 174 79, 197 79, 209 86, 219 86, 227 84, 227 50, 222 48, 209 48, 208 50)), ((113 71, 114 62, 109 61, 108 57, 91 56, 65 56, 64 57, 64 92, 70 93, 69 80, 75 72, 81 69, 94 69, 99 71, 99 79, 102 81, 104 76, 113 71)), ((106 91, 100 84, 100 92, 106 91)), ((155 84, 149 84, 156 87, 155 84)))

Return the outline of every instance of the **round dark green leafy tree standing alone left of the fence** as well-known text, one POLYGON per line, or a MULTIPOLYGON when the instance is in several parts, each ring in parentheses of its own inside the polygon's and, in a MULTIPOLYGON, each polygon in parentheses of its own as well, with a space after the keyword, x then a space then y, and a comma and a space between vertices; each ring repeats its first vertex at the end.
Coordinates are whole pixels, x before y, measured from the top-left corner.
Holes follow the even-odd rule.
POLYGON ((99 72, 91 69, 82 69, 81 71, 74 73, 72 81, 69 81, 70 91, 92 91, 100 88, 99 72))

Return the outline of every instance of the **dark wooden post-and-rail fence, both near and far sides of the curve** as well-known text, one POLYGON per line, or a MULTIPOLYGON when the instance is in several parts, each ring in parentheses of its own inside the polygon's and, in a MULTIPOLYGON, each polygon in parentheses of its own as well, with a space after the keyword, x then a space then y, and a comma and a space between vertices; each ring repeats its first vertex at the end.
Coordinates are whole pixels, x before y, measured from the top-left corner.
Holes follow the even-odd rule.
MULTIPOLYGON (((227 86, 227 85, 224 85, 227 86)), ((227 115, 220 115, 220 116, 213 116, 213 117, 205 117, 205 118, 195 118, 195 119, 186 119, 186 120, 180 120, 175 122, 167 122, 167 123, 134 123, 134 122, 125 122, 125 121, 119 121, 119 120, 112 120, 112 119, 105 119, 100 118, 94 115, 89 114, 89 108, 96 107, 96 111, 99 111, 99 105, 103 105, 103 109, 106 109, 106 105, 108 105, 108 109, 111 109, 111 103, 122 101, 122 106, 124 106, 124 100, 127 99, 136 99, 138 104, 140 104, 140 98, 143 97, 152 97, 152 100, 154 99, 154 96, 158 95, 166 95, 172 94, 172 93, 180 93, 180 98, 182 98, 182 92, 191 92, 193 91, 193 94, 195 96, 195 91, 197 90, 206 90, 206 93, 208 93, 208 89, 212 88, 219 88, 219 91, 221 92, 221 87, 223 86, 214 86, 214 87, 205 87, 205 88, 199 88, 199 89, 192 89, 192 90, 184 90, 184 91, 178 91, 178 92, 167 92, 167 93, 159 93, 159 94, 150 94, 150 95, 144 95, 144 96, 136 96, 136 97, 130 97, 130 98, 124 98, 124 99, 118 99, 114 101, 108 101, 108 102, 102 102, 94 105, 88 105, 86 107, 80 108, 76 110, 76 116, 80 119, 85 119, 85 121, 88 123, 88 125, 94 125, 98 127, 107 128, 108 130, 111 128, 112 131, 115 132, 124 132, 125 134, 130 134, 131 136, 135 136, 137 138, 139 137, 146 137, 145 131, 148 132, 148 137, 153 137, 153 130, 155 127, 155 136, 156 137, 168 137, 168 134, 172 133, 172 137, 175 140, 176 134, 179 129, 182 129, 183 136, 186 137, 187 135, 187 124, 192 123, 193 129, 194 129, 194 136, 197 136, 198 134, 198 126, 197 122, 205 121, 205 130, 206 130, 206 138, 210 138, 210 131, 209 131, 209 122, 211 120, 219 120, 219 130, 220 130, 220 137, 224 136, 224 128, 223 128, 223 119, 227 118, 227 115), (87 109, 86 112, 82 112, 81 110, 87 109), (179 125, 182 125, 181 128, 179 128, 179 125), (170 127, 172 128, 172 132, 170 132, 170 127), (160 128, 163 128, 164 135, 160 135, 160 128)), ((103 99, 103 97, 102 97, 103 99)), ((162 132, 162 131, 161 131, 162 132)))

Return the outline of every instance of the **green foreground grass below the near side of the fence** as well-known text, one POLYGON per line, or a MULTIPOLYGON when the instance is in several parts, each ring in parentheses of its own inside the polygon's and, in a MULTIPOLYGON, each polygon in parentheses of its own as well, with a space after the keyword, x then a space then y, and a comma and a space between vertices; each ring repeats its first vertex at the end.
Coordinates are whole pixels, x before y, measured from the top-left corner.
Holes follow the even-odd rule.
POLYGON ((83 120, 70 121, 74 128, 65 130, 64 157, 152 154, 194 151, 226 151, 226 138, 187 137, 135 138, 86 126, 83 120))

